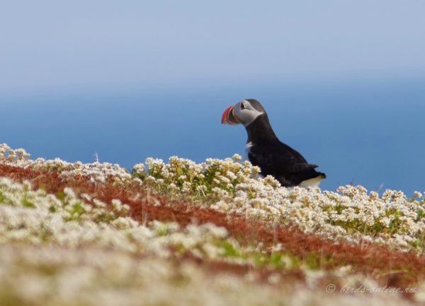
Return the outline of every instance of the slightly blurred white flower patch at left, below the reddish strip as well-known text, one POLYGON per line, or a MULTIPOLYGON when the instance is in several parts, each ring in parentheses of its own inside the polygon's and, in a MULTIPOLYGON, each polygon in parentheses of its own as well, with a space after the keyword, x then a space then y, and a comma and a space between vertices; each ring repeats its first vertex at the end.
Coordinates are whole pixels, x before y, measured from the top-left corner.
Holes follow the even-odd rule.
POLYGON ((225 246, 240 249, 237 242, 227 239, 224 228, 210 223, 186 228, 159 221, 141 225, 128 216, 128 206, 118 199, 111 205, 97 199, 93 203, 86 204, 69 188, 59 198, 42 189, 33 191, 30 182, 0 178, 0 243, 96 245, 162 257, 168 257, 173 247, 182 254, 210 259, 225 256, 225 246))

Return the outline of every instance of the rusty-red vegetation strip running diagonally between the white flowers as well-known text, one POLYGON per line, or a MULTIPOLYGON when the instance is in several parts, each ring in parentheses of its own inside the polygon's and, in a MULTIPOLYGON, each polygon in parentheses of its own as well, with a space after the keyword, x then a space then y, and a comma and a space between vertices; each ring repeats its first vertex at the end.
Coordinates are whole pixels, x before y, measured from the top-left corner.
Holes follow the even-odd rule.
MULTIPOLYGON (((30 180, 34 188, 42 188, 53 194, 62 192, 65 187, 71 187, 77 194, 91 194, 106 203, 110 203, 112 199, 120 199, 130 205, 132 218, 142 223, 149 220, 175 221, 181 225, 214 223, 227 228, 229 235, 235 237, 242 245, 249 242, 263 242, 265 247, 273 247, 280 243, 285 251, 300 259, 309 259, 313 256, 322 269, 351 265, 353 271, 373 277, 382 285, 412 287, 425 276, 425 257, 413 252, 395 252, 385 246, 371 243, 363 245, 336 243, 316 235, 307 235, 296 228, 271 225, 235 214, 228 215, 209 208, 200 208, 190 202, 171 201, 165 196, 152 195, 147 189, 136 184, 120 187, 112 182, 93 183, 83 176, 62 178, 55 172, 35 171, 10 165, 0 165, 0 176, 10 177, 17 182, 30 180)), ((230 269, 235 272, 239 269, 241 272, 252 270, 252 267, 237 267, 226 263, 215 262, 213 265, 217 270, 230 269)), ((270 271, 261 274, 266 277, 268 273, 270 271)), ((295 272, 285 273, 292 273, 295 278, 300 277, 295 272)))

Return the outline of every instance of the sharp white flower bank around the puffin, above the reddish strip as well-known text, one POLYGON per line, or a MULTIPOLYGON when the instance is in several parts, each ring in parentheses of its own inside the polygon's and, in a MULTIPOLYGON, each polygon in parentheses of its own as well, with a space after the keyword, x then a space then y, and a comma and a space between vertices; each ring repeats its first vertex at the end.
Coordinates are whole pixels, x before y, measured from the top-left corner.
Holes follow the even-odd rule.
POLYGON ((259 168, 239 156, 208 159, 196 164, 172 157, 168 164, 148 158, 136 177, 158 192, 203 197, 203 205, 227 213, 257 216, 296 225, 306 233, 352 242, 380 242, 402 249, 423 249, 425 199, 419 192, 408 198, 386 190, 382 196, 361 186, 339 187, 336 192, 280 187, 273 177, 259 177, 259 168))

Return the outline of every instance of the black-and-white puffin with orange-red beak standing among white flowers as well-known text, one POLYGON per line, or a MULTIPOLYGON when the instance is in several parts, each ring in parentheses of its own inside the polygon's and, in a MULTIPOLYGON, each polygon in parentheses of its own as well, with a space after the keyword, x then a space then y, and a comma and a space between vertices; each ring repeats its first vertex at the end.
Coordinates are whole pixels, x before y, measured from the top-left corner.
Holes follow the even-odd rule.
POLYGON ((261 175, 275 177, 282 187, 319 187, 326 178, 324 173, 316 171, 317 165, 307 163, 300 153, 278 139, 258 100, 245 99, 227 107, 221 122, 244 125, 249 161, 260 167, 261 175))

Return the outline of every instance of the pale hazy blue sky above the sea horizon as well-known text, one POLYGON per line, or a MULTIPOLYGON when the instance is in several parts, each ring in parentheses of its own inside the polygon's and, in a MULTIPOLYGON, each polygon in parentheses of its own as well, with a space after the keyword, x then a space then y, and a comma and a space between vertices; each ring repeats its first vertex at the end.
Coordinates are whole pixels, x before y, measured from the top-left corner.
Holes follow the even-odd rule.
POLYGON ((0 94, 425 75, 425 2, 3 1, 0 94))

